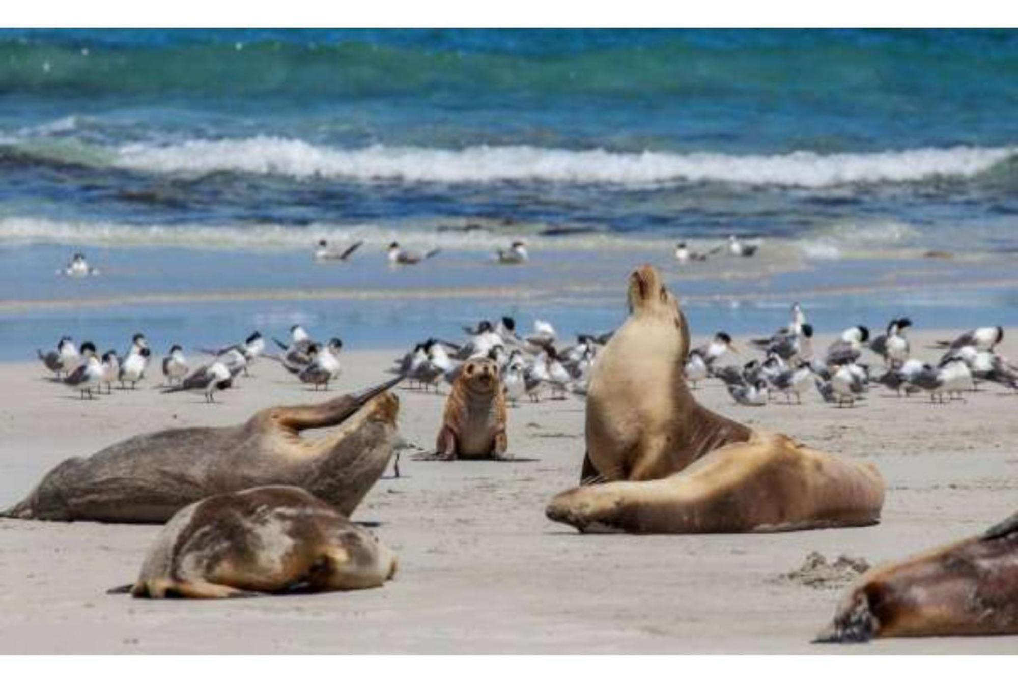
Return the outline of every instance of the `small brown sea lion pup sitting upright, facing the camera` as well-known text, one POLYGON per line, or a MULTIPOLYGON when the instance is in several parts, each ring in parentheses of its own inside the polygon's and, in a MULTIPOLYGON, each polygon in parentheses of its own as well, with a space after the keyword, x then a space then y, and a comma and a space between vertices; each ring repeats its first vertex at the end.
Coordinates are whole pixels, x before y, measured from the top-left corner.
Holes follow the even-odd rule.
POLYGON ((471 358, 463 363, 446 400, 436 456, 501 458, 509 446, 507 421, 498 364, 490 358, 471 358))

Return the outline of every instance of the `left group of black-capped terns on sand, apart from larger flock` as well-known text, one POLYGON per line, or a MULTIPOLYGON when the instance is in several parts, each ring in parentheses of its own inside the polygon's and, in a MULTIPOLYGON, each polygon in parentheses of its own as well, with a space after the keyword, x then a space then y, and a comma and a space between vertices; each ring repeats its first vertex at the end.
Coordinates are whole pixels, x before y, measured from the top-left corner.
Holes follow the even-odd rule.
MULTIPOLYGON (((319 343, 297 325, 290 328, 290 341, 273 339, 280 353, 266 351, 265 339, 258 331, 243 342, 221 347, 199 347, 196 351, 211 357, 211 360, 191 365, 179 344, 170 346, 162 360, 163 384, 158 388, 163 394, 190 392, 205 397, 207 402, 215 402, 215 394, 238 387, 237 378, 248 376, 249 368, 262 356, 278 361, 283 368, 301 383, 313 389, 329 389, 329 383, 339 378, 342 367, 339 350, 343 342, 332 338, 319 343)), ((133 390, 145 380, 152 360, 152 349, 142 333, 135 334, 128 350, 118 354, 110 349, 100 356, 93 342, 82 342, 81 346, 67 336, 61 337, 56 348, 43 352, 37 350, 39 359, 56 380, 79 392, 81 399, 96 399, 103 394, 113 393, 114 384, 119 389, 133 390)))

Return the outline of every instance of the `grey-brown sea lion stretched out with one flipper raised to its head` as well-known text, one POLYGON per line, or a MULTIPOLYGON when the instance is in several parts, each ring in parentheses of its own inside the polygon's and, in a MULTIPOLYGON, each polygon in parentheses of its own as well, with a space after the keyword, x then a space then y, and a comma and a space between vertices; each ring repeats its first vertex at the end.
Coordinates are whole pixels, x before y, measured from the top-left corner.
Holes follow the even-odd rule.
POLYGON ((302 487, 349 515, 393 454, 395 378, 321 404, 275 406, 228 428, 142 435, 47 473, 3 516, 40 520, 166 522, 208 496, 266 484, 302 487), (314 439, 299 433, 339 426, 314 439))

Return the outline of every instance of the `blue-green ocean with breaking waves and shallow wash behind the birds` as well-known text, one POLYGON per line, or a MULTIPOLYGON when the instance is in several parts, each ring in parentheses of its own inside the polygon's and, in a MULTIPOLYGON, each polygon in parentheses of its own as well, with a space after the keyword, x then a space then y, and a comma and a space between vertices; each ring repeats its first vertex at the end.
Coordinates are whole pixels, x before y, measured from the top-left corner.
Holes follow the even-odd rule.
POLYGON ((1018 33, 0 31, 0 358, 608 329, 646 261, 703 335, 1018 323, 1018 33), (670 259, 733 233, 759 255, 670 259))

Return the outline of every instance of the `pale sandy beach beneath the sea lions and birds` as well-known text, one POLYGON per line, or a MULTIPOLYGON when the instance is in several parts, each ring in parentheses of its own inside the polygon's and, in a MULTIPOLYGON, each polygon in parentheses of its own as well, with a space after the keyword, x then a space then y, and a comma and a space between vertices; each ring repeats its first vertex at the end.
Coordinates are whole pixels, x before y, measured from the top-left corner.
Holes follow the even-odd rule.
MULTIPOLYGON (((913 353, 936 358, 923 343, 940 337, 913 334, 913 353)), ((1001 351, 1013 358, 1018 345, 1008 339, 1001 351)), ((378 382, 398 353, 344 353, 337 390, 378 382)), ((220 395, 221 403, 206 405, 192 395, 159 394, 158 372, 136 391, 80 401, 50 382, 38 362, 0 365, 7 390, 0 407, 0 507, 19 500, 61 460, 132 435, 228 424, 271 404, 327 396, 268 359, 253 373, 220 395)), ((965 403, 946 405, 873 388, 846 409, 816 394, 801 406, 737 406, 717 381, 696 391, 710 408, 748 424, 875 462, 887 500, 883 521, 865 528, 628 536, 581 535, 553 523, 545 505, 576 482, 583 454, 583 403, 575 397, 511 410, 514 462, 422 462, 404 452, 402 476, 392 477, 390 469, 353 516, 377 525, 374 531, 399 555, 395 580, 378 589, 229 602, 107 595, 107 588, 133 580, 158 526, 0 519, 0 651, 1014 653, 1018 637, 811 645, 845 587, 783 578, 810 552, 869 563, 901 559, 1013 513, 1018 394, 984 388, 965 403)), ((431 448, 445 397, 398 394, 402 435, 431 448)))

